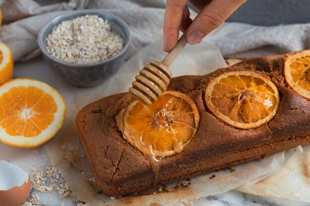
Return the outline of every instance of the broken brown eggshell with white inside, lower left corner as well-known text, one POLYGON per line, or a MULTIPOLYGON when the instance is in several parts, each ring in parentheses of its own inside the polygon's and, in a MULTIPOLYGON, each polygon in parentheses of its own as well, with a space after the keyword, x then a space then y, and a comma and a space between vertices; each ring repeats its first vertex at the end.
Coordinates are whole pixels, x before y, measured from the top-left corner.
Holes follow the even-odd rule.
POLYGON ((16 165, 0 161, 0 206, 21 206, 28 199, 30 176, 16 165))

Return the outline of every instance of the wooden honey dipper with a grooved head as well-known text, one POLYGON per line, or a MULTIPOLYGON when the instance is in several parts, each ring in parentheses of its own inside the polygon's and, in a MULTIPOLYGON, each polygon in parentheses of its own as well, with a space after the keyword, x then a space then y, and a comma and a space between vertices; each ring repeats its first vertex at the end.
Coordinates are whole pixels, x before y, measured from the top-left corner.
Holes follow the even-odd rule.
POLYGON ((172 78, 172 73, 168 68, 186 44, 186 35, 183 34, 175 47, 161 62, 150 61, 150 64, 140 70, 136 81, 132 82, 129 93, 145 105, 152 104, 167 89, 172 78))

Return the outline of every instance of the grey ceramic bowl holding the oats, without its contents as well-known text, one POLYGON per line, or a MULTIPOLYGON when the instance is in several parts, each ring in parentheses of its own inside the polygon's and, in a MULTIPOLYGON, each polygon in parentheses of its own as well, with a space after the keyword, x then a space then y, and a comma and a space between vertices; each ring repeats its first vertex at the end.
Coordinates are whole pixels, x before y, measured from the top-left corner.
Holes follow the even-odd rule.
POLYGON ((119 17, 98 10, 78 10, 68 14, 62 14, 53 18, 39 32, 38 42, 45 61, 57 75, 63 77, 67 82, 81 87, 96 86, 101 84, 106 78, 113 75, 125 62, 130 43, 130 32, 128 25, 119 17), (120 35, 125 41, 123 50, 110 59, 98 63, 74 64, 56 59, 47 51, 47 37, 52 32, 52 28, 64 20, 74 19, 87 14, 98 15, 107 19, 111 24, 111 30, 120 35))

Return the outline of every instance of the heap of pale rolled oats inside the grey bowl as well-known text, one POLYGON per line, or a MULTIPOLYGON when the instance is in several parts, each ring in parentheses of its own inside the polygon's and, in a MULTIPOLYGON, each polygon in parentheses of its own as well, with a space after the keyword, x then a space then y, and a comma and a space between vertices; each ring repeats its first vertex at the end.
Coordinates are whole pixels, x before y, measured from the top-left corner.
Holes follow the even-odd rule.
POLYGON ((53 57, 76 64, 102 62, 120 53, 124 44, 111 31, 110 23, 98 15, 62 21, 47 37, 47 51, 53 57))

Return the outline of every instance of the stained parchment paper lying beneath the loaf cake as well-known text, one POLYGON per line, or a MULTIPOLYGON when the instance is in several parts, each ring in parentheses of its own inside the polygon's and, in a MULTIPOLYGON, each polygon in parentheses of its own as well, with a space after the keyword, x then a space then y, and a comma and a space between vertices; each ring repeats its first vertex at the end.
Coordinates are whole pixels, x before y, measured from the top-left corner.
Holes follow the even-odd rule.
MULTIPOLYGON (((88 103, 110 94, 127 91, 134 76, 145 64, 152 59, 160 60, 164 55, 162 42, 155 41, 129 59, 113 77, 98 87, 76 88, 68 86, 58 88, 67 102, 67 118, 61 132, 52 141, 44 145, 44 148, 53 164, 59 168, 74 195, 78 200, 86 202, 87 206, 192 205, 190 201, 192 199, 226 192, 246 182, 262 179, 281 169, 291 157, 296 156, 296 153, 291 149, 270 155, 263 161, 258 159, 236 165, 234 172, 224 169, 220 172, 215 171, 199 175, 196 178, 192 177, 192 184, 186 188, 173 189, 176 183, 169 184, 168 187, 171 188, 171 192, 166 193, 124 196, 113 200, 105 194, 99 194, 95 182, 89 181, 89 178, 92 178, 92 172, 87 159, 84 158, 84 150, 75 126, 75 116, 88 103), (66 146, 65 149, 61 148, 62 145, 66 146), (81 172, 85 172, 85 174, 81 172), (210 179, 209 177, 213 174, 215 178, 210 179)), ((180 76, 203 75, 220 67, 226 67, 226 63, 219 51, 210 44, 203 42, 195 46, 186 46, 170 69, 174 76, 180 76)), ((301 147, 297 151, 301 153, 301 147)))

